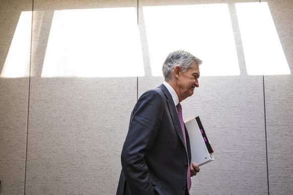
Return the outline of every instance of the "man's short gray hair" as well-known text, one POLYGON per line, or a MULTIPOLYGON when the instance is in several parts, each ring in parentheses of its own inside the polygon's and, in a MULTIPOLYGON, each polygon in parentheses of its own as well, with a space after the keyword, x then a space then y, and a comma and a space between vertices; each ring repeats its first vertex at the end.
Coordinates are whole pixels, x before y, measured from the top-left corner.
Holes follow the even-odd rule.
POLYGON ((172 78, 172 72, 175 66, 178 65, 183 72, 187 72, 193 62, 197 65, 202 64, 200 59, 187 51, 177 50, 170 53, 162 67, 165 80, 168 81, 172 78))

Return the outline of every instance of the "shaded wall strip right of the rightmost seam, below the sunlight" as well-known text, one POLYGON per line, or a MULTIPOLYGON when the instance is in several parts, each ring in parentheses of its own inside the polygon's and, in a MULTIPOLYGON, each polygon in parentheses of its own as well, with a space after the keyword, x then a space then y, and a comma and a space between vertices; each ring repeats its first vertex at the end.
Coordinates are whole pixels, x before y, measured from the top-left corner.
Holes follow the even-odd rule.
POLYGON ((292 75, 266 76, 266 129, 271 194, 291 194, 293 187, 292 75))

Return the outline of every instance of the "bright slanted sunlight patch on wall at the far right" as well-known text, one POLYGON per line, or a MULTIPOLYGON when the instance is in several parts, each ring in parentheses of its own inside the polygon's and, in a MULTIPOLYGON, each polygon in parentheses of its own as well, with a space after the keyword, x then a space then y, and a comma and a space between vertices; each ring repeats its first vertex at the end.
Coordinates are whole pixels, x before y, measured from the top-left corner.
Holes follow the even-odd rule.
POLYGON ((235 4, 247 73, 249 75, 290 74, 268 4, 235 4))

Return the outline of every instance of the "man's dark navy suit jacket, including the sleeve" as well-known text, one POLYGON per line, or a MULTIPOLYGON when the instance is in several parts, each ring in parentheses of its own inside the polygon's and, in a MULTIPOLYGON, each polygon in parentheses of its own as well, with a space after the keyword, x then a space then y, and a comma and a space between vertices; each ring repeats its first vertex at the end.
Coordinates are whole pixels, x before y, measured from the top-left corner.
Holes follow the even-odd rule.
POLYGON ((131 113, 117 194, 185 194, 189 163, 170 92, 164 84, 146 91, 131 113))

